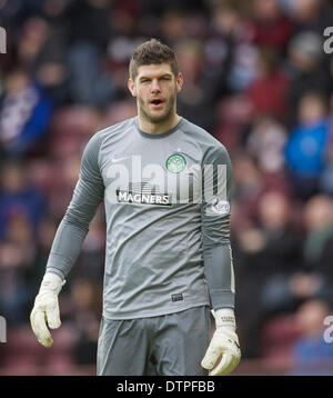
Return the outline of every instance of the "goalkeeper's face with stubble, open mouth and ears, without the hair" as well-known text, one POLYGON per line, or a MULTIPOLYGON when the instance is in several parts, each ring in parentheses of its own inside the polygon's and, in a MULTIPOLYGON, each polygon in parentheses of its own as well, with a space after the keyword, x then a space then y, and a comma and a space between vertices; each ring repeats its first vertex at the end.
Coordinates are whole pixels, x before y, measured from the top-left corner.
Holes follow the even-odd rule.
POLYGON ((129 89, 137 97, 140 117, 153 123, 169 119, 175 113, 182 82, 182 74, 174 77, 169 63, 139 67, 135 81, 129 80, 129 89))

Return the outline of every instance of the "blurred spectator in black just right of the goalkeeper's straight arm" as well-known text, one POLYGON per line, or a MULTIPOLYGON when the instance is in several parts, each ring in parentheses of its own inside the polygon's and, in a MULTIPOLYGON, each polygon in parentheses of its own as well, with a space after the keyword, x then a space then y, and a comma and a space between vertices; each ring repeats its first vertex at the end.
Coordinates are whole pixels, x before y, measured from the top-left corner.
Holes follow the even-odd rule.
POLYGON ((285 285, 301 262, 302 239, 293 222, 292 202, 283 193, 270 191, 260 197, 258 213, 258 223, 236 235, 234 256, 238 279, 246 280, 238 295, 245 347, 255 347, 269 317, 294 309, 284 301, 285 285))

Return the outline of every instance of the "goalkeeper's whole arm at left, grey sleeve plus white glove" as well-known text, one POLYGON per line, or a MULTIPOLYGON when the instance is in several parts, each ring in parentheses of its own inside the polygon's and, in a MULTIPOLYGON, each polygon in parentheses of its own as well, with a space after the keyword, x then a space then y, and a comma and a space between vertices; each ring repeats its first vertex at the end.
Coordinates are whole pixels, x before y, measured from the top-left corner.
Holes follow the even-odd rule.
POLYGON ((99 168, 100 145, 101 137, 95 135, 84 149, 79 180, 57 230, 47 271, 30 315, 31 328, 44 347, 51 347, 53 344, 48 327, 57 329, 61 325, 58 295, 81 251, 89 225, 103 200, 104 185, 99 168))

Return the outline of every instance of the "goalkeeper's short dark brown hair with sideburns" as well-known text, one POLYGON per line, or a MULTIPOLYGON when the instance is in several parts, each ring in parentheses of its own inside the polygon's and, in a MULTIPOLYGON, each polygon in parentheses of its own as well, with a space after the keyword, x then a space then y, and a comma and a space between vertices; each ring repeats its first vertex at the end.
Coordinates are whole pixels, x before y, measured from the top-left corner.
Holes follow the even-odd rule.
POLYGON ((140 44, 130 61, 129 73, 132 80, 138 76, 138 68, 142 64, 170 63, 173 74, 179 73, 179 64, 174 52, 170 47, 157 39, 151 39, 140 44))

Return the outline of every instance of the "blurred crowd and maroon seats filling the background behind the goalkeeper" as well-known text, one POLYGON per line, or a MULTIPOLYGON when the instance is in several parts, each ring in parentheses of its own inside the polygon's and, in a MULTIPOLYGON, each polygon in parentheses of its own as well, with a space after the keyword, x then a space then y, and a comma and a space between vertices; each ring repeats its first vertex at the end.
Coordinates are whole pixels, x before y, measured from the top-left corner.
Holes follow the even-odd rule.
POLYGON ((80 158, 133 117, 134 48, 155 37, 184 73, 178 111, 229 150, 243 358, 234 375, 332 375, 333 58, 324 0, 0 0, 0 375, 94 375, 105 220, 60 295, 47 350, 29 315, 80 158))

